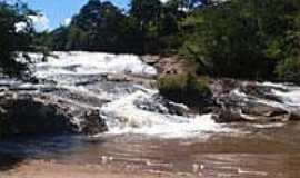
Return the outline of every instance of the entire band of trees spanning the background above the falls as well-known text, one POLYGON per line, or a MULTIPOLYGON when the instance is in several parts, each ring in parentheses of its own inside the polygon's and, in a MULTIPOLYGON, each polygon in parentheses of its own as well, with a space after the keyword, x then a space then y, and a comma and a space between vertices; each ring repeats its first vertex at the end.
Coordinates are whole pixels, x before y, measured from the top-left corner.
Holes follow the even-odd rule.
POLYGON ((6 73, 24 68, 16 51, 84 50, 179 55, 198 75, 300 81, 299 0, 132 0, 128 10, 90 0, 70 24, 46 32, 33 30, 32 13, 0 2, 6 73))

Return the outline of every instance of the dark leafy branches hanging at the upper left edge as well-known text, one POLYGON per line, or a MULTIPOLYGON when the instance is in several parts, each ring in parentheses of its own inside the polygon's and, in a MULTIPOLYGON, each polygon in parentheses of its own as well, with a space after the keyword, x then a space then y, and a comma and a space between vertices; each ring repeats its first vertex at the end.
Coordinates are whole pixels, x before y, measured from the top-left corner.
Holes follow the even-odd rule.
MULTIPOLYGON (((0 69, 9 76, 26 77, 26 62, 18 62, 17 51, 32 49, 33 28, 28 16, 33 14, 23 3, 0 2, 0 69)), ((24 59, 27 56, 24 56, 24 59)))

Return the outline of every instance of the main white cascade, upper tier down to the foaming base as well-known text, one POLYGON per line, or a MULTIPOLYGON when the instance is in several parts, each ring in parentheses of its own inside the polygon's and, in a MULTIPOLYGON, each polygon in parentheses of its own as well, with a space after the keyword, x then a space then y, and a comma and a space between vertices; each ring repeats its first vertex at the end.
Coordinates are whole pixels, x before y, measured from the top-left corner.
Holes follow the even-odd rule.
MULTIPOLYGON (((134 105, 137 101, 150 100, 158 93, 156 89, 130 83, 124 90, 117 88, 110 91, 111 88, 106 87, 104 82, 89 87, 74 85, 82 77, 94 79, 103 73, 133 75, 143 78, 157 76, 157 70, 142 62, 138 56, 96 52, 53 52, 53 56, 47 62, 36 65, 36 77, 54 80, 58 86, 63 86, 69 90, 110 100, 109 103, 99 106, 109 126, 109 134, 132 132, 184 137, 221 130, 221 126, 211 119, 211 115, 182 117, 144 110, 134 105)), ((162 105, 160 107, 168 110, 162 105)))

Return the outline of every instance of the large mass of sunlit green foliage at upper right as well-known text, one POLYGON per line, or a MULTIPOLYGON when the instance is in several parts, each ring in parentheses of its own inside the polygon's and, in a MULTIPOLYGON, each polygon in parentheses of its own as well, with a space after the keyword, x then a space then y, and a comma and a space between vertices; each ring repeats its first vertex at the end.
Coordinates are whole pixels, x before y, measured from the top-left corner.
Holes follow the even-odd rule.
POLYGON ((214 76, 272 79, 274 68, 298 47, 298 0, 231 0, 193 11, 184 21, 181 53, 214 76))

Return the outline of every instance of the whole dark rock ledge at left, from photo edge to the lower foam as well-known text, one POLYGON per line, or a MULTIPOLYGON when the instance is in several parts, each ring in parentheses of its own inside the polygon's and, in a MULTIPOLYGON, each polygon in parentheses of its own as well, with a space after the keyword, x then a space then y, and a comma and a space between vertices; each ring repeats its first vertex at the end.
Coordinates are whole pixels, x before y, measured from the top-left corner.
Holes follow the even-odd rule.
POLYGON ((96 109, 72 108, 46 95, 0 92, 0 135, 94 135, 108 128, 96 109))

